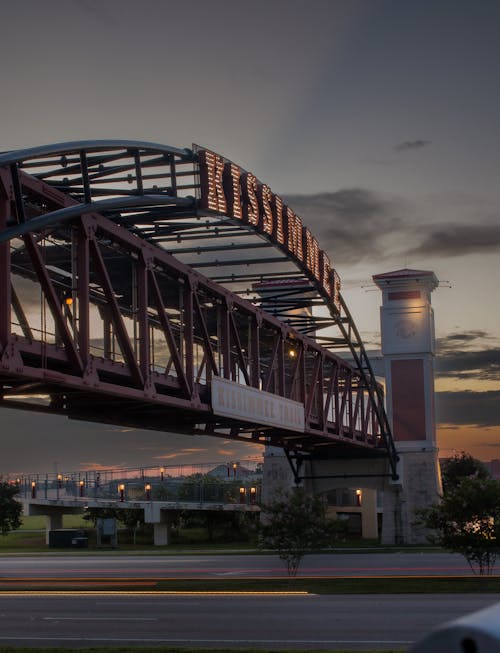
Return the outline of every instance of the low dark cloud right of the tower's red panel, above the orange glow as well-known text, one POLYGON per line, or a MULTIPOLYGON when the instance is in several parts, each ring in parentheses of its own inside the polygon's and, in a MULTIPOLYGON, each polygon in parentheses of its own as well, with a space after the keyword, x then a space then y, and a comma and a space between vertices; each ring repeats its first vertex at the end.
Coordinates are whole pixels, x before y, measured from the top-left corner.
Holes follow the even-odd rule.
POLYGON ((438 423, 500 426, 500 390, 436 393, 438 423))

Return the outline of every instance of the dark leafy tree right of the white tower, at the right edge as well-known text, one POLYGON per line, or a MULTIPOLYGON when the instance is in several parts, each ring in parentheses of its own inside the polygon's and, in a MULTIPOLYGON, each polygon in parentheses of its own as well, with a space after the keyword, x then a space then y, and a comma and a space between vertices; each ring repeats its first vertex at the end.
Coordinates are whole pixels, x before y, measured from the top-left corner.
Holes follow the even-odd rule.
POLYGON ((462 554, 472 571, 491 574, 500 552, 500 483, 468 454, 448 461, 441 502, 418 511, 429 540, 462 554))

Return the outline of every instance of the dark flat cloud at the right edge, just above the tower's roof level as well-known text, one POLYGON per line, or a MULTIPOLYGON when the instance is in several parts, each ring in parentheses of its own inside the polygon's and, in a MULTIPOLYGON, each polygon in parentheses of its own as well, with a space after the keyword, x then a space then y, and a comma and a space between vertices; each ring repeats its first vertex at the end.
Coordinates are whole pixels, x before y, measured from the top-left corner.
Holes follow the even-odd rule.
POLYGON ((419 226, 423 238, 408 251, 412 256, 464 256, 500 250, 500 224, 419 226))

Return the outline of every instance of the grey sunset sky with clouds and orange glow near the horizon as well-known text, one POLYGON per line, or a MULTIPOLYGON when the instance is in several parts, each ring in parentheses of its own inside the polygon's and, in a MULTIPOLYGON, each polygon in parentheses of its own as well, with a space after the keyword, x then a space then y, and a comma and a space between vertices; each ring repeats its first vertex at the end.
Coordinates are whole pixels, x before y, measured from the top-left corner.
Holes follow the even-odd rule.
MULTIPOLYGON (((497 0, 4 0, 0 151, 206 146, 286 198, 367 348, 372 275, 433 270, 441 455, 500 458, 497 0)), ((1 473, 260 450, 0 411, 1 473)))

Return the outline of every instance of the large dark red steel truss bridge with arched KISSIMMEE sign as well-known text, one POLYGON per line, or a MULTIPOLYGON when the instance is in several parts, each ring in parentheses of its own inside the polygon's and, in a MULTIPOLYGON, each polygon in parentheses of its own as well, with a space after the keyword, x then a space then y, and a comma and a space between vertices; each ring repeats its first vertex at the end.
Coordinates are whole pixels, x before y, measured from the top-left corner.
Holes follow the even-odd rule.
POLYGON ((0 155, 0 406, 290 461, 383 457, 396 475, 328 255, 269 186, 197 146, 0 155))

